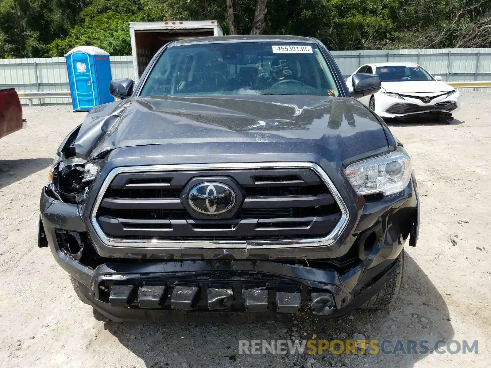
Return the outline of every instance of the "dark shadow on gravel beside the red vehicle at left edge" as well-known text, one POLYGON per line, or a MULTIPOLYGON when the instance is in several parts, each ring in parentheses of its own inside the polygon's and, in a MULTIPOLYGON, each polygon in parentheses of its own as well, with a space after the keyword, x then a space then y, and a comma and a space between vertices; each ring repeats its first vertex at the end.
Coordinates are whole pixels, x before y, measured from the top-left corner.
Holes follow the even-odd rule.
POLYGON ((53 158, 0 159, 0 189, 27 178, 29 175, 47 168, 52 163, 53 158))

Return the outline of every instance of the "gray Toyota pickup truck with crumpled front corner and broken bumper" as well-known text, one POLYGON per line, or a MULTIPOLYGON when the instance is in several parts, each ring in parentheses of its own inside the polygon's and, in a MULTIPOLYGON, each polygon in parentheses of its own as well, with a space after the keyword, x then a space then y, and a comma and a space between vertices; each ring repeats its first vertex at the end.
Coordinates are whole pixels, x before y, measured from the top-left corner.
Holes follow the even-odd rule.
POLYGON ((380 78, 352 84, 313 38, 167 44, 61 143, 39 245, 114 320, 386 307, 419 197, 408 153, 356 100, 380 78))

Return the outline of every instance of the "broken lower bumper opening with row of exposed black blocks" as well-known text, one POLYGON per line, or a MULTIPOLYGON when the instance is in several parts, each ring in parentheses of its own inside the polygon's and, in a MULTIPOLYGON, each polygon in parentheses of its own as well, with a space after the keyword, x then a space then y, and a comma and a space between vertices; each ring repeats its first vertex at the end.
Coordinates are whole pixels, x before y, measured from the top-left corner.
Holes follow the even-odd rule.
POLYGON ((136 313, 308 310, 329 315, 351 301, 334 270, 268 261, 106 263, 93 271, 86 291, 108 313, 108 307, 123 307, 136 313))

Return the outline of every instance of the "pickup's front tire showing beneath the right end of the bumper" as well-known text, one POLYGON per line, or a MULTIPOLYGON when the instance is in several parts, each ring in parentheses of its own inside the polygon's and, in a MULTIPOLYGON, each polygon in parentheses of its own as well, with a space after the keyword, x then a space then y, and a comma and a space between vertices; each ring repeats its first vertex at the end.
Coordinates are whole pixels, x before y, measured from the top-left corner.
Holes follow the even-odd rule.
POLYGON ((397 257, 394 271, 387 279, 382 289, 365 302, 360 308, 362 309, 385 309, 391 305, 399 294, 404 274, 404 249, 397 257))

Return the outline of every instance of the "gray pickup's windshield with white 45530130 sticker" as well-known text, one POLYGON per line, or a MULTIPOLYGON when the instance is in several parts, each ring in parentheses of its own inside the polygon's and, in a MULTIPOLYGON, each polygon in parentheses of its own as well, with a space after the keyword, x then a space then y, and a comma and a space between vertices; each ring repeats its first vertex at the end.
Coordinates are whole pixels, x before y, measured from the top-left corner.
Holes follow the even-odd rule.
POLYGON ((315 44, 211 43, 169 47, 151 70, 140 96, 338 96, 315 44))

